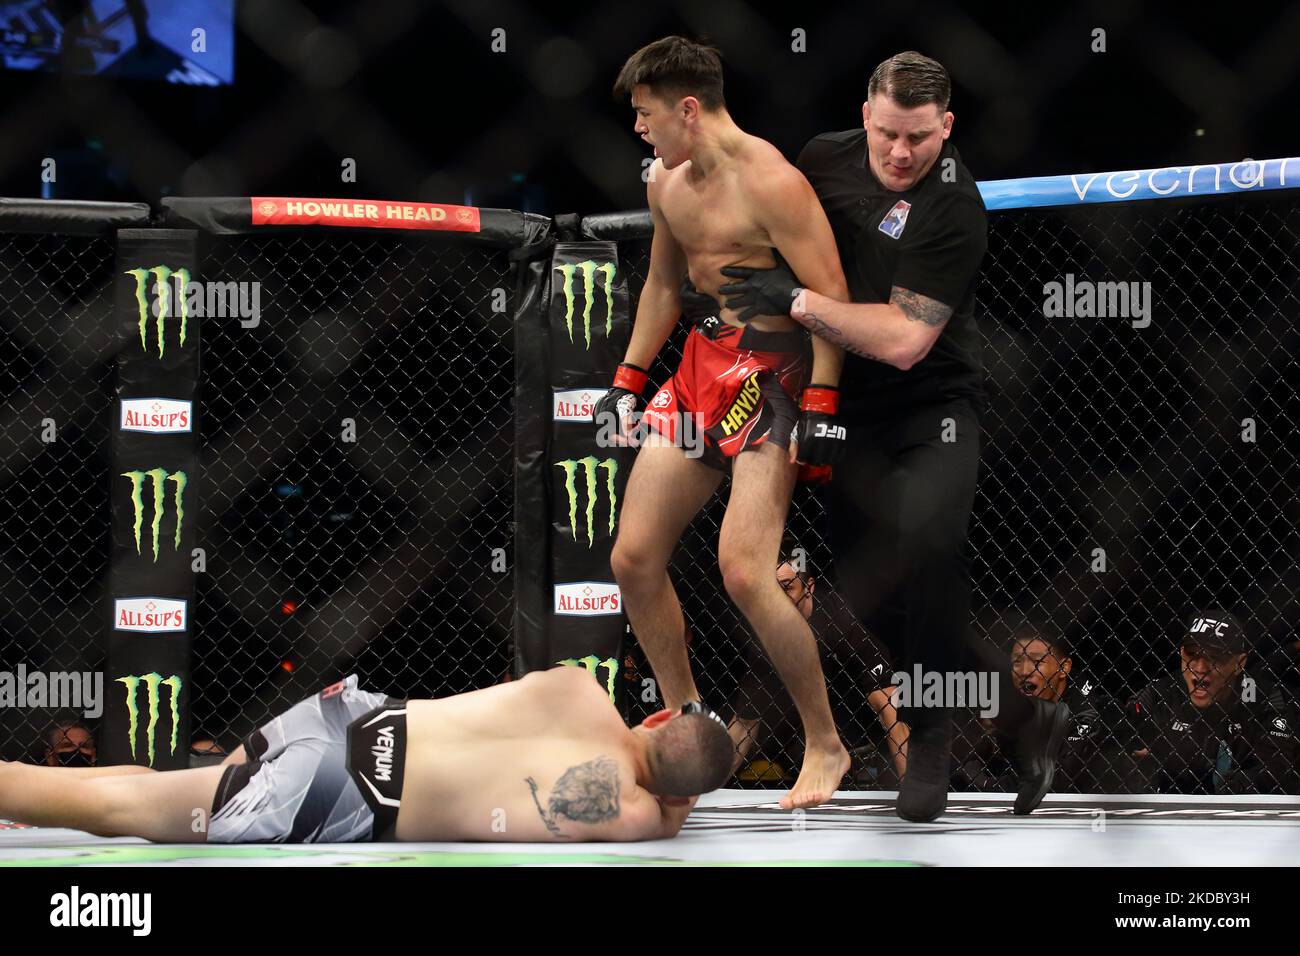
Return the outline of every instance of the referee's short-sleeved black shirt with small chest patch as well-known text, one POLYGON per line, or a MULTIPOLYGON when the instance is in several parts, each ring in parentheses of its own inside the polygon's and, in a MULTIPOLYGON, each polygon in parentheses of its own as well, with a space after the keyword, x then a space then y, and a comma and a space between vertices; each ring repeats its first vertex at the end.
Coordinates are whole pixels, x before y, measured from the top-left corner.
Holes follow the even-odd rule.
POLYGON ((841 412, 887 419, 957 397, 983 408, 975 282, 988 245, 988 213, 957 147, 945 142, 926 177, 904 193, 887 190, 872 174, 864 129, 815 137, 798 168, 831 220, 853 302, 887 303, 889 290, 902 286, 953 308, 930 354, 906 372, 846 354, 841 412), (952 182, 944 181, 945 169, 952 182))

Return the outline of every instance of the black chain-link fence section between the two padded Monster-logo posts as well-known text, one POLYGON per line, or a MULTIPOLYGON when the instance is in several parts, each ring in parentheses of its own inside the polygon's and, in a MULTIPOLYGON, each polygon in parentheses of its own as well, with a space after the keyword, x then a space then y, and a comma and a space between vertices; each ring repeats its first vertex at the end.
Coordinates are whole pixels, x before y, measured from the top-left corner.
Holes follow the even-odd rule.
POLYGON ((500 252, 222 238, 263 321, 204 328, 195 726, 238 737, 342 674, 432 697, 511 656, 512 408, 500 252), (502 293, 503 294, 503 293, 502 293), (495 558, 495 559, 494 559, 495 558))

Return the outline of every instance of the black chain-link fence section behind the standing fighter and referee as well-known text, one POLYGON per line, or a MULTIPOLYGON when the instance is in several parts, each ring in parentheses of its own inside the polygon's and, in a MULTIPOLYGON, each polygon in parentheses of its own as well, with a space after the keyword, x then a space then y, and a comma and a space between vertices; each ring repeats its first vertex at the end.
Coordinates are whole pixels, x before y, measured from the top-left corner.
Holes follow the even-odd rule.
MULTIPOLYGON (((976 635, 1009 661, 1027 633, 1045 637, 1052 657, 1069 654, 1067 685, 1088 726, 1086 740, 1070 741, 1074 760, 1057 790, 1195 790, 1195 766, 1150 779, 1149 766, 1130 758, 1152 730, 1124 706, 1157 682, 1182 680, 1179 648, 1193 613, 1236 609, 1253 643, 1245 672, 1261 701, 1280 701, 1269 721, 1294 726, 1300 398, 1290 382, 1300 380, 1300 204, 1013 211, 991 215, 989 229, 976 308, 991 395, 970 532, 976 635), (1150 282, 1149 325, 1045 317, 1045 284, 1067 276, 1150 282)), ((624 254, 636 295, 649 246, 624 243, 624 254)), ((684 336, 679 329, 651 381, 672 373, 684 336)), ((802 756, 798 718, 718 571, 727 494, 724 484, 690 527, 672 576, 701 693, 728 718, 763 715, 746 723, 737 782, 789 786, 802 756)), ((854 780, 896 787, 867 693, 880 683, 875 669, 900 662, 829 587, 824 519, 816 492, 800 485, 788 541, 805 550, 818 581, 810 623, 837 726, 858 758, 854 780)), ((637 663, 649 672, 644 658, 637 663)), ((1045 669, 1026 672, 1039 671, 1041 684, 1045 669)), ((959 714, 954 787, 1014 790, 1009 747, 959 714)), ((1248 765, 1258 773, 1239 778, 1239 788, 1300 792, 1295 754, 1283 758, 1248 765)))

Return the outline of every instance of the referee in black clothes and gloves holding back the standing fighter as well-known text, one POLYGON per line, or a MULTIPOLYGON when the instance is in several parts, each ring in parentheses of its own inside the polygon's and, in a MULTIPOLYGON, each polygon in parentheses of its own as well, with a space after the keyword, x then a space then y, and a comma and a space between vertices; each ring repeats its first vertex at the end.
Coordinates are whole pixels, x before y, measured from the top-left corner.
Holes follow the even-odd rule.
MULTIPOLYGON (((837 401, 831 390, 798 428, 801 462, 835 463, 826 503, 838 588, 909 672, 998 675, 996 726, 1017 741, 1024 814, 1052 784, 1069 709, 1015 693, 1006 658, 971 635, 966 540, 985 405, 975 284, 988 216, 949 142, 950 90, 941 64, 898 53, 871 74, 862 127, 815 137, 800 155, 852 302, 800 287, 780 259, 723 268, 737 281, 719 291, 753 315, 788 311, 848 352, 837 401)), ((956 702, 900 709, 911 727, 904 819, 948 805, 956 702)))

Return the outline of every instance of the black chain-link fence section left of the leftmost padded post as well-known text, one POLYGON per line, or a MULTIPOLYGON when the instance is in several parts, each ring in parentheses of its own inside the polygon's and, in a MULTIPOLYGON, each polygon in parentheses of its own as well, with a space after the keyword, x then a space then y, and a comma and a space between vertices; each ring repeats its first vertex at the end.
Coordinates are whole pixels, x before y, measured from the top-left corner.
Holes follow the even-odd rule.
MULTIPOLYGON (((110 237, 0 233, 0 672, 104 659, 113 405, 110 237)), ((17 695, 16 695, 17 697, 17 695)), ((77 714, 0 706, 0 757, 77 714)))

